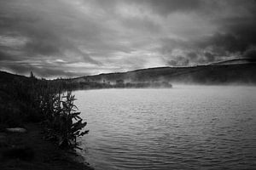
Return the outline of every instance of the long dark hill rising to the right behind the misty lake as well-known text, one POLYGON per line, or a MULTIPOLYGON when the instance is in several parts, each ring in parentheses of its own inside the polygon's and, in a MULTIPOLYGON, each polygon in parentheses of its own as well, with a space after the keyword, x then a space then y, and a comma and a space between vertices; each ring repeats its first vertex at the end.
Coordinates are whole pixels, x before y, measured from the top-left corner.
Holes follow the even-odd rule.
MULTIPOLYGON (((230 61, 233 62, 233 61, 230 61)), ((256 84, 256 63, 158 67, 73 78, 72 82, 170 82, 194 84, 256 84)))

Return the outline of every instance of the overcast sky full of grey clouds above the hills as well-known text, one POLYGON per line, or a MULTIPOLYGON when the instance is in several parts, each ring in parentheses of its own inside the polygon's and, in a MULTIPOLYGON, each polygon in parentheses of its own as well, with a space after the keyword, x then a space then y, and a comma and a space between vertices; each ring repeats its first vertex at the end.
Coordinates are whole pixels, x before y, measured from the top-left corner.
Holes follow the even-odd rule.
POLYGON ((0 0, 1 71, 81 77, 255 55, 255 0, 0 0))

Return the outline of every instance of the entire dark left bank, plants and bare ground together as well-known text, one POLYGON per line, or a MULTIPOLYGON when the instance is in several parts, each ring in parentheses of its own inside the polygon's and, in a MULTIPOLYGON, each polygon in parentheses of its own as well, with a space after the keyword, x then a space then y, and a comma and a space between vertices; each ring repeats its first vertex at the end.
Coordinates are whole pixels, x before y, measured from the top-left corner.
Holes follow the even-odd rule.
POLYGON ((93 169, 73 150, 88 131, 71 90, 65 82, 0 71, 0 169, 93 169))

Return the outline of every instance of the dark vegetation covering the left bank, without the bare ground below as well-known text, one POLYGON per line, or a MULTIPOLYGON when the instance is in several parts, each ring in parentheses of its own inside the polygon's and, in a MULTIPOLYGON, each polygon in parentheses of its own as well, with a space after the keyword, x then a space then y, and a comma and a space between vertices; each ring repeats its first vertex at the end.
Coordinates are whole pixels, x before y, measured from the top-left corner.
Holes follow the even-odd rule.
MULTIPOLYGON (((74 105, 74 95, 65 83, 39 80, 31 77, 14 77, 3 80, 0 124, 5 127, 19 127, 22 122, 43 122, 48 139, 58 142, 63 148, 76 148, 77 137, 88 133, 83 131, 86 122, 79 116, 74 105)), ((1 129, 0 129, 1 130, 1 129)))

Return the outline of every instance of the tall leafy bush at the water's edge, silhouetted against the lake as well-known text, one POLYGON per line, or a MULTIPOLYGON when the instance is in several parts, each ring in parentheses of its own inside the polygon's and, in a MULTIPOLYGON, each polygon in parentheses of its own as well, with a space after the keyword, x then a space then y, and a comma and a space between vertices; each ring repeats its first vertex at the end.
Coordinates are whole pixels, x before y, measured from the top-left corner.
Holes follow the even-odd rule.
MULTIPOLYGON (((53 138, 59 140, 61 148, 74 148, 77 146, 77 137, 83 136, 89 130, 84 130, 87 122, 79 116, 80 112, 73 104, 75 98, 71 92, 66 95, 57 94, 52 106, 53 112, 47 119, 49 126, 54 129, 53 138)), ((53 139, 51 138, 51 139, 53 139)))

